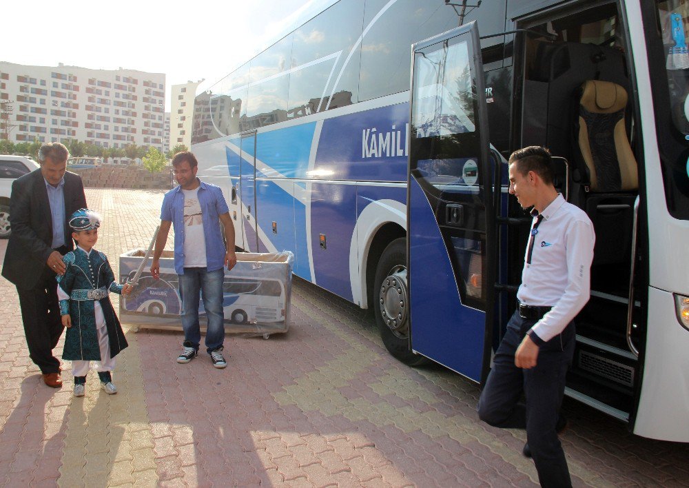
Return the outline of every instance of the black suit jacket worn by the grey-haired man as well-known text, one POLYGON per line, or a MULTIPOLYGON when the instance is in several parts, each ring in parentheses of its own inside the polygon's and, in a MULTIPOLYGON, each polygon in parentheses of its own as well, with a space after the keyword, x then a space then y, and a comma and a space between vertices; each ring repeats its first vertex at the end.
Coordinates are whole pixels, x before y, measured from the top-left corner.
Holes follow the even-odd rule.
MULTIPOLYGON (((86 196, 78 174, 66 172, 65 246, 74 249, 68 218, 86 208, 86 196)), ((19 288, 37 286, 52 250, 52 214, 48 190, 41 170, 34 170, 14 180, 10 199, 10 241, 5 253, 2 276, 19 288)))

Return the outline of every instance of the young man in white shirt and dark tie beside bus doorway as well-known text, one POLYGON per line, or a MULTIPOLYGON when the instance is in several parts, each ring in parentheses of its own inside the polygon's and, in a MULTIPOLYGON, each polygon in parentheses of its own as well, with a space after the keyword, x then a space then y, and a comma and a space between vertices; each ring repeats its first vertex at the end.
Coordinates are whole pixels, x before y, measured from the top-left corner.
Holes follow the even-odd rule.
POLYGON ((517 310, 493 360, 478 404, 495 427, 526 428, 524 454, 533 457, 544 487, 571 486, 557 432, 559 409, 575 347, 574 318, 590 296, 595 234, 584 211, 553 186, 546 148, 531 146, 509 159, 510 193, 533 207, 517 292, 517 310), (526 405, 520 402, 526 396, 526 405))

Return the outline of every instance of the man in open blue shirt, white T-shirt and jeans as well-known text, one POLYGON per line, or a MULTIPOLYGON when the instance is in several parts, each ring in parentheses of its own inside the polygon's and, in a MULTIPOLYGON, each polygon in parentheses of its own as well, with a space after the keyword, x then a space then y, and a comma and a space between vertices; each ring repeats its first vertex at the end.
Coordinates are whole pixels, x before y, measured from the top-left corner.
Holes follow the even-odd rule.
POLYGON ((189 363, 198 354, 200 329, 198 301, 203 291, 206 311, 206 350, 214 367, 227 366, 221 351, 225 340, 223 313, 224 267, 232 270, 237 263, 234 254, 234 225, 223 192, 216 185, 196 178, 198 162, 191 152, 178 152, 172 159, 179 183, 165 194, 161 209, 161 229, 156 237, 151 274, 160 277, 160 258, 165 248, 170 225, 174 227, 174 267, 179 276, 182 296, 184 343, 178 363, 189 363), (225 243, 220 225, 225 230, 225 243))

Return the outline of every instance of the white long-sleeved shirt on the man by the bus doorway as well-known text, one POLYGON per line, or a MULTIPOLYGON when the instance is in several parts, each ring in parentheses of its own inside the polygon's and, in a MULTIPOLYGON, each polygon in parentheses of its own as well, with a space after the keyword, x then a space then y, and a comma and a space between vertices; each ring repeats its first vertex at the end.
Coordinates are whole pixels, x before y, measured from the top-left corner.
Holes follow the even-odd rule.
POLYGON ((553 307, 531 328, 547 342, 588 302, 595 233, 586 213, 566 202, 562 194, 542 215, 537 233, 529 235, 529 242, 534 241, 531 264, 526 263, 527 243, 517 298, 524 305, 553 307))

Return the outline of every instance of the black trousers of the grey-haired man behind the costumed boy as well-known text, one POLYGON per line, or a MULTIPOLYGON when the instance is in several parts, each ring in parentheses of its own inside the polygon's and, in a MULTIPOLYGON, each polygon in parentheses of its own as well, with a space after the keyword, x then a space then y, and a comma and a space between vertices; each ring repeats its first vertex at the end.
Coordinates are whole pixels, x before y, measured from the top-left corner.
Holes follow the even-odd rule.
POLYGON ((57 301, 56 283, 55 274, 44 267, 36 287, 17 287, 29 357, 43 374, 60 372, 60 361, 52 355, 52 349, 65 329, 57 301))

